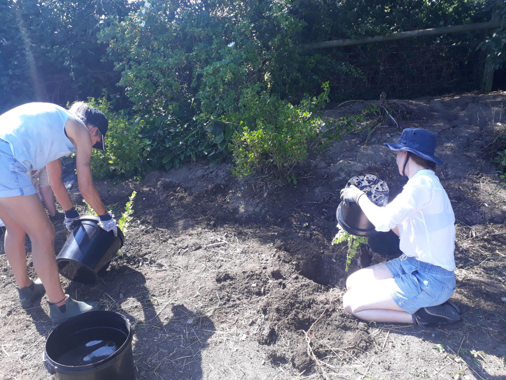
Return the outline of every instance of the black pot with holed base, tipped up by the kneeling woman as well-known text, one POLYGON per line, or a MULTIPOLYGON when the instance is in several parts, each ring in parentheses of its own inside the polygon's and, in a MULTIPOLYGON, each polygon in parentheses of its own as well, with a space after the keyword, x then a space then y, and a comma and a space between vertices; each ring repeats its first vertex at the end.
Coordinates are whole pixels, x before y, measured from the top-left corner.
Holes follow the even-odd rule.
MULTIPOLYGON (((389 194, 387 183, 375 175, 366 174, 353 177, 348 181, 346 187, 352 185, 363 191, 376 206, 385 206, 387 204, 389 194)), ((351 235, 374 236, 379 234, 355 202, 341 202, 335 216, 339 225, 351 235)))

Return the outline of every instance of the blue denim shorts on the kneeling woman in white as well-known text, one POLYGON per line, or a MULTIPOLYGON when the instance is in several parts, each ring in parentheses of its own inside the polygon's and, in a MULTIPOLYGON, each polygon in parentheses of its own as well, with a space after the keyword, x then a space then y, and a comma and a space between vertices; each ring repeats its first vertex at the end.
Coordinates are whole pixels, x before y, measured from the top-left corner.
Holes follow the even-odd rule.
POLYGON ((394 274, 392 298, 409 314, 428 306, 441 305, 455 291, 455 274, 437 265, 402 255, 386 262, 394 274))

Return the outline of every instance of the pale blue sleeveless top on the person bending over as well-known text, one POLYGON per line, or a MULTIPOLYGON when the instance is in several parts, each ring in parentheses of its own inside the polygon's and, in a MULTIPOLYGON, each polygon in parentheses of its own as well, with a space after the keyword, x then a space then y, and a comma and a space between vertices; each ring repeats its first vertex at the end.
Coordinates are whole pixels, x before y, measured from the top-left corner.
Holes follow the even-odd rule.
POLYGON ((14 157, 27 171, 40 169, 74 151, 65 135, 68 118, 79 121, 56 104, 23 104, 0 115, 0 138, 9 141, 14 157))

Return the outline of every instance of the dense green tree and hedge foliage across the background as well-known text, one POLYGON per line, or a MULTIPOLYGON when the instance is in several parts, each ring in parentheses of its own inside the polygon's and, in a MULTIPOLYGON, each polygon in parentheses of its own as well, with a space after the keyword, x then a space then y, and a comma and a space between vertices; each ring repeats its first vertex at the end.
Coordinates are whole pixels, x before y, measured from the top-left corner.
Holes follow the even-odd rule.
MULTIPOLYGON (((379 60, 383 54, 379 45, 308 51, 301 44, 488 21, 495 3, 6 0, 0 3, 0 83, 4 89, 0 111, 34 100, 65 104, 89 97, 102 99, 100 105, 113 124, 111 138, 114 135, 115 140, 109 146, 123 149, 100 157, 102 174, 108 165, 114 176, 132 176, 177 168, 187 160, 214 163, 235 157, 236 163, 244 162, 237 149, 271 133, 287 141, 304 126, 306 140, 299 144, 311 146, 312 139, 322 137, 304 129, 319 125, 307 99, 324 82, 330 81, 332 87, 339 76, 351 78, 348 87, 367 81, 360 61, 376 66, 380 75, 386 65, 379 60), (342 59, 348 53, 359 58, 342 59), (115 117, 119 109, 122 112, 115 117), (290 113, 296 111, 300 111, 299 119, 290 113), (119 133, 121 129, 133 134, 131 141, 119 133), (137 150, 129 156, 126 148, 137 150), (140 161, 140 169, 134 169, 133 158, 140 161)), ((471 51, 483 36, 483 32, 447 34, 418 39, 418 44, 465 45, 471 51)), ((501 42, 503 34, 498 33, 481 45, 499 57, 496 67, 504 63, 501 42)), ((403 54, 412 60, 427 58, 416 49, 403 54)), ((447 55, 451 60, 451 54, 447 55)), ((450 69, 461 65, 460 57, 453 60, 450 69)), ((395 70, 400 80, 394 86, 399 88, 398 84, 416 78, 409 69, 395 70)), ((338 99, 345 90, 334 86, 328 96, 338 99)), ((276 149, 281 147, 287 146, 276 149)), ((272 152, 257 155, 271 163, 274 156, 272 152)), ((291 165, 293 157, 300 160, 304 154, 286 155, 287 161, 274 167, 291 165)))

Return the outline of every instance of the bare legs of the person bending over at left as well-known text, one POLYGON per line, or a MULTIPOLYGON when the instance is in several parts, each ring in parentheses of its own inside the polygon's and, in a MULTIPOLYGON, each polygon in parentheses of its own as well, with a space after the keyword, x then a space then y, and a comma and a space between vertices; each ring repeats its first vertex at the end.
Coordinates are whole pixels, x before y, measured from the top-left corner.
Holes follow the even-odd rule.
MULTIPOLYGON (((28 234, 32 243, 33 267, 46 288, 49 301, 52 303, 58 302, 58 305, 62 305, 65 300, 65 294, 60 284, 60 275, 56 264, 54 249, 55 227, 49 220, 38 196, 34 194, 31 196, 0 198, 0 208, 2 209, 0 218, 2 220, 6 219, 4 220, 6 230, 10 232, 13 229, 13 232, 18 234, 18 245, 20 231, 25 231, 28 234)), ((13 242, 16 241, 13 240, 13 242)), ((16 250, 8 253, 6 246, 6 254, 11 267, 13 267, 15 276, 16 273, 22 274, 26 272, 24 249, 22 253, 23 257, 19 257, 21 255, 20 252, 18 247, 16 250), (24 269, 21 268, 23 262, 24 269)), ((23 278, 20 278, 20 280, 23 280, 23 278)), ((18 281, 18 277, 16 277, 16 281, 18 281)), ((18 286, 21 287, 22 284, 18 283, 18 286)))

